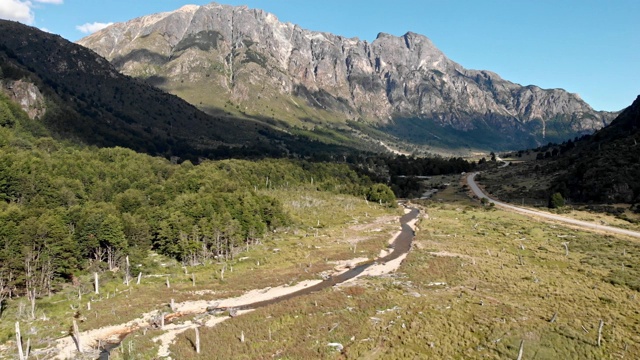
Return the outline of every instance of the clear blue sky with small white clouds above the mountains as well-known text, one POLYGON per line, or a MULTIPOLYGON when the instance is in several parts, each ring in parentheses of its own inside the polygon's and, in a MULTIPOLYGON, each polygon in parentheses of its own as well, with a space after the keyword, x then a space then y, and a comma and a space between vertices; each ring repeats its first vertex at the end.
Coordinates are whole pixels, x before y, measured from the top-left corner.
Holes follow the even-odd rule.
MULTIPOLYGON (((208 2, 0 0, 0 18, 75 41, 102 24, 208 2)), ((264 9, 303 28, 369 41, 379 32, 413 31, 466 68, 491 70, 523 85, 563 88, 596 110, 620 110, 640 94, 640 0, 218 2, 264 9)))

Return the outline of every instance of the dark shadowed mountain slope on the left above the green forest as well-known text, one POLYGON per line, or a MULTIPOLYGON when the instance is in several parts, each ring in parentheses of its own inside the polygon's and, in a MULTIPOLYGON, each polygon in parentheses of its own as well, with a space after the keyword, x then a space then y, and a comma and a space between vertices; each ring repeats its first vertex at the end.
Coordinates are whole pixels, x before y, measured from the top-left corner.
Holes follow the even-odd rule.
MULTIPOLYGON (((10 34, 0 37, 0 93, 29 113, 32 120, 23 125, 32 131, 193 160, 342 154, 371 146, 348 139, 326 144, 250 117, 206 114, 60 36, 5 20, 0 33, 10 34)), ((3 123, 11 118, 5 107, 3 123)))

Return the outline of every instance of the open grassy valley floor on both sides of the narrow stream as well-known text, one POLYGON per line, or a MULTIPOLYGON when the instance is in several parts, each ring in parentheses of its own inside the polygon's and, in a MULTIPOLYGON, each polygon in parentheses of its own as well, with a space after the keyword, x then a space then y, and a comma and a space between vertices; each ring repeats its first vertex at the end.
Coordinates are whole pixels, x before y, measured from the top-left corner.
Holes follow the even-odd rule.
MULTIPOLYGON (((199 354, 191 326, 203 319, 193 315, 167 325, 175 330, 168 338, 160 329, 133 333, 112 359, 153 359, 159 350, 173 359, 515 359, 521 346, 525 359, 640 357, 637 239, 482 207, 461 184, 422 202, 426 215, 396 272, 360 277, 242 316, 219 317, 228 320, 199 328, 199 354)), ((344 261, 379 255, 397 231, 397 215, 388 210, 344 198, 343 210, 336 211, 320 196, 289 194, 288 206, 307 204, 300 216, 309 230, 295 240, 250 249, 224 280, 219 268, 207 269, 218 272, 214 281, 211 273, 193 268, 195 289, 190 277, 178 272, 171 275, 171 289, 162 277, 154 288, 120 291, 95 302, 91 312, 79 311, 86 318, 81 328, 104 325, 92 319, 94 313, 115 323, 114 318, 128 321, 149 310, 169 312, 170 298, 179 308, 203 294, 223 299, 250 289, 269 293, 265 286, 282 283, 293 288, 340 270, 344 261), (161 301, 127 305, 138 296, 161 301)), ((45 314, 54 305, 40 306, 45 314)), ((32 325, 47 323, 38 321, 32 325)), ((7 344, 4 354, 12 356, 14 348, 7 344)))

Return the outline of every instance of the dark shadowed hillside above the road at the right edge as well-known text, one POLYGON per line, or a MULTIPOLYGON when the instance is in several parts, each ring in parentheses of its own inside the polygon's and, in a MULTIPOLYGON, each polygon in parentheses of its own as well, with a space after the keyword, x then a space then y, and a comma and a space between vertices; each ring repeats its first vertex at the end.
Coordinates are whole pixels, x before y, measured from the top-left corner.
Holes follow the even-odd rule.
POLYGON ((480 177, 485 189, 502 201, 547 206, 560 193, 578 208, 640 222, 639 142, 640 96, 595 134, 502 154, 512 160, 510 166, 480 177))

